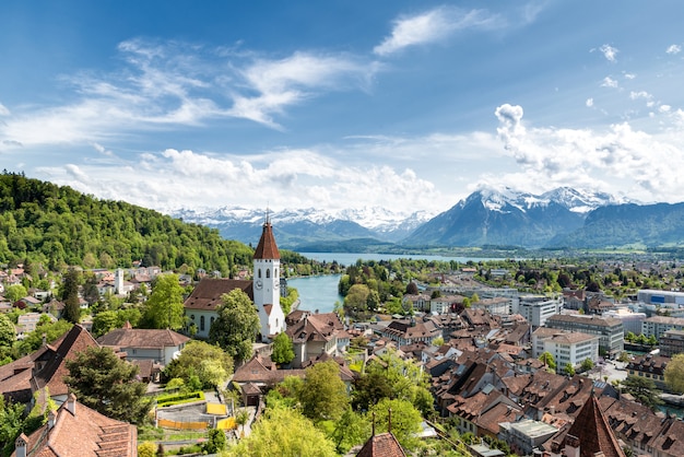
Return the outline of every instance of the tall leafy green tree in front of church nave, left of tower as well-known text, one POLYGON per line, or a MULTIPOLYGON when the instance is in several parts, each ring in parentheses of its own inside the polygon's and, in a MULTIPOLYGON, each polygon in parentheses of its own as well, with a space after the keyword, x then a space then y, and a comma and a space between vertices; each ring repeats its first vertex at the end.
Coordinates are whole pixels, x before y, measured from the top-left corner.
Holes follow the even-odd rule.
POLYGON ((251 347, 259 331, 259 314, 249 296, 234 289, 221 297, 216 308, 219 317, 209 329, 209 341, 217 343, 234 359, 245 361, 251 356, 251 347))

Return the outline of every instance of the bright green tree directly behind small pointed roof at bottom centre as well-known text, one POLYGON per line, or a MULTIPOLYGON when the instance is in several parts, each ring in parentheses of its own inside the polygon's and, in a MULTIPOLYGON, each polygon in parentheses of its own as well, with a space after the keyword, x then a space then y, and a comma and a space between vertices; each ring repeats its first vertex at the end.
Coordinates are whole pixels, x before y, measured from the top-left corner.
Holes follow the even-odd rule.
POLYGON ((415 434, 421 431, 423 418, 421 412, 406 400, 385 398, 370 408, 368 419, 375 417, 376 433, 387 432, 391 414, 392 433, 405 449, 414 449, 418 440, 415 434))

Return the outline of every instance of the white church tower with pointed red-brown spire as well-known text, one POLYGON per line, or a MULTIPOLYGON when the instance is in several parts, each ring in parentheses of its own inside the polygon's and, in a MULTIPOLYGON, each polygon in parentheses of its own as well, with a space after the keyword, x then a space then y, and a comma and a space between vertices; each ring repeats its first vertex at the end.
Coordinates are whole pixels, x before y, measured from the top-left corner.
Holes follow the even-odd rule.
POLYGON ((261 339, 269 341, 285 330, 285 315, 280 307, 280 253, 268 213, 252 262, 252 288, 261 323, 261 339))

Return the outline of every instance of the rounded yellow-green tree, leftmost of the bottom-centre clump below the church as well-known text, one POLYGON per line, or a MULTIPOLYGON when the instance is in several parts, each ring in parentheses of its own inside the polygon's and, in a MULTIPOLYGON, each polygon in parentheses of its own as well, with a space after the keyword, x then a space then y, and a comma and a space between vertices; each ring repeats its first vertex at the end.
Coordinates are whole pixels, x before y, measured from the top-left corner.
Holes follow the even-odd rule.
POLYGON ((306 368, 306 378, 298 392, 302 412, 314 422, 337 420, 349 405, 346 386, 334 361, 320 362, 306 368))

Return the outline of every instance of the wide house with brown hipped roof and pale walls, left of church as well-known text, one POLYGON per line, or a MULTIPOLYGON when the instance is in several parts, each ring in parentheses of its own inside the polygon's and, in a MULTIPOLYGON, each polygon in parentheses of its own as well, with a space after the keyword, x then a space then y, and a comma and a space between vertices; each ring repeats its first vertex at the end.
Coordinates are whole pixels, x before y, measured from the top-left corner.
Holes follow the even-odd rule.
POLYGON ((188 341, 190 338, 170 329, 132 328, 128 323, 97 339, 102 347, 125 352, 129 361, 150 360, 161 365, 168 365, 188 341))

